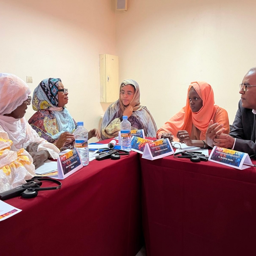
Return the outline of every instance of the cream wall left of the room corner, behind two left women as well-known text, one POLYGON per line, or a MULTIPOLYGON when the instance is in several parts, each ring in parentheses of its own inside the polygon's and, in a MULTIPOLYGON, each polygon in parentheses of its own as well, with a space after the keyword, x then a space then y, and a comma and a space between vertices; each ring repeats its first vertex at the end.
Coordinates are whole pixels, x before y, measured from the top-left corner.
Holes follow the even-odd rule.
MULTIPOLYGON (((112 0, 0 0, 0 72, 24 81, 61 78, 69 89, 67 108, 85 127, 98 128, 99 54, 115 55, 112 0)), ((30 106, 26 119, 33 115, 30 106)))

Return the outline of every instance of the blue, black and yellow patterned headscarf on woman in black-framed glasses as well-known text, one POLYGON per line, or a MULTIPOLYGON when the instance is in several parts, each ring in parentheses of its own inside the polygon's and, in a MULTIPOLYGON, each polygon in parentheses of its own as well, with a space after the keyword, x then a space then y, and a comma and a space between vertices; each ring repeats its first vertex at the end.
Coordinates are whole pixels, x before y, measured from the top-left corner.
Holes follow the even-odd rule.
POLYGON ((35 111, 58 107, 58 83, 60 78, 46 78, 33 93, 32 107, 35 111))

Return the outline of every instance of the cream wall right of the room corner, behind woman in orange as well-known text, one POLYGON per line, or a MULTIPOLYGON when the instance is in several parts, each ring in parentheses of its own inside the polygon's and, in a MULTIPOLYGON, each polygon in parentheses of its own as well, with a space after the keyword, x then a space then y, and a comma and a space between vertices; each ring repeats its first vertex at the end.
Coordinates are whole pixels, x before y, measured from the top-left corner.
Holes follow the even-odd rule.
POLYGON ((128 0, 116 11, 119 82, 137 80, 158 128, 185 105, 190 82, 212 85, 232 124, 239 83, 256 66, 256 2, 128 0))

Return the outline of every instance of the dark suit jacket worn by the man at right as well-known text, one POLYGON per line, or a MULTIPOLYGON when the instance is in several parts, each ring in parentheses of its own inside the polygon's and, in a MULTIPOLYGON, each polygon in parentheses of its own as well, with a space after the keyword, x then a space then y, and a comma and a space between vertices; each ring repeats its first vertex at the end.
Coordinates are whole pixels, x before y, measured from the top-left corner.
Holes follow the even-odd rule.
POLYGON ((236 138, 234 150, 248 153, 249 156, 256 154, 255 130, 255 115, 252 109, 243 108, 240 100, 233 128, 229 133, 236 138))

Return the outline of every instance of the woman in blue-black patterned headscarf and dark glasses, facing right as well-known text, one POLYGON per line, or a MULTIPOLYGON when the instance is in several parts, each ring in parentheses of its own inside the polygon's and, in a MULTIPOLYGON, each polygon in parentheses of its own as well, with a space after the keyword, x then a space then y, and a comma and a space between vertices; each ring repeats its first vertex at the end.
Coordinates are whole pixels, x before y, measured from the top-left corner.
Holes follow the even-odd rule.
MULTIPOLYGON (((37 111, 28 123, 38 135, 59 149, 74 148, 76 122, 65 107, 68 102, 68 90, 64 88, 60 78, 47 78, 35 88, 32 107, 37 111)), ((97 129, 90 130, 88 139, 100 137, 97 129)))

